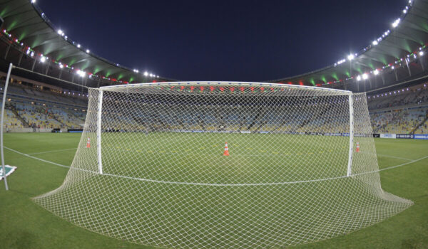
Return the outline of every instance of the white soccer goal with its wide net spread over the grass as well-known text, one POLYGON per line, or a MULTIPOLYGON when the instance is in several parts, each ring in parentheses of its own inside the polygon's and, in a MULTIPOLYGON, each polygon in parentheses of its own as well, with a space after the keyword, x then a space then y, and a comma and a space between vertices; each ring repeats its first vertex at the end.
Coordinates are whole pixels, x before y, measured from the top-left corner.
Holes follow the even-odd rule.
POLYGON ((412 205, 381 188, 365 93, 225 82, 89 90, 71 169, 34 201, 161 248, 310 243, 412 205))

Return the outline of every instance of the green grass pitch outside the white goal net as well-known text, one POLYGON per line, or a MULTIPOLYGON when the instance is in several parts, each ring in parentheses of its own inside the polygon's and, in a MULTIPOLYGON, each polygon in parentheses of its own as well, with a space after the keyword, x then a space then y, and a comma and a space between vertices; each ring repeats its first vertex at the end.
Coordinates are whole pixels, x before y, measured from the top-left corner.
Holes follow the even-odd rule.
MULTIPOLYGON (((70 165, 80 137, 81 134, 5 134, 4 144, 6 147, 31 154, 40 159, 70 165)), ((270 153, 272 154, 271 157, 298 157, 300 156, 298 154, 305 153, 290 151, 290 153, 281 156, 275 154, 279 153, 275 149, 270 149, 267 152, 264 151, 263 147, 258 147, 257 144, 237 150, 236 142, 235 144, 233 141, 228 142, 230 142, 230 146, 233 146, 231 153, 235 154, 270 153), (251 152, 252 150, 257 150, 257 152, 251 152)), ((375 142, 380 169, 411 162, 426 157, 428 154, 428 141, 375 139, 375 142)), ((245 144, 245 142, 241 144, 245 144)), ((205 145, 198 144, 197 146, 204 146, 204 149, 211 152, 213 148, 210 147, 213 145, 215 145, 214 142, 207 142, 205 145)), ((238 144, 238 148, 239 146, 240 144, 238 144)), ((122 147, 121 149, 132 150, 136 148, 122 147)), ((189 149, 189 152, 175 152, 174 147, 156 149, 155 144, 151 150, 148 149, 141 153, 153 154, 148 157, 150 159, 156 158, 156 154, 191 153, 190 145, 189 149)), ((219 154, 222 153, 223 148, 215 149, 218 150, 219 154)), ((335 149, 343 148, 337 147, 335 149)), ((307 149, 307 153, 315 153, 315 151, 316 149, 307 149)), ((320 151, 316 151, 316 153, 320 153, 320 151)), ((8 149, 5 149, 5 157, 6 164, 18 166, 18 169, 8 178, 10 191, 6 192, 3 181, 0 182, 0 208, 2 212, 0 248, 149 248, 73 226, 73 224, 36 205, 34 201, 31 201, 31 197, 44 194, 60 186, 68 169, 24 157, 8 149)), ((197 163, 198 160, 195 159, 194 162, 197 163)), ((253 163, 256 165, 257 161, 253 161, 253 163)), ((296 248, 427 248, 427 164, 428 159, 423 159, 380 173, 382 188, 385 191, 414 201, 414 206, 382 223, 377 223, 360 231, 317 243, 299 245, 296 248)), ((225 177, 233 176, 233 173, 219 175, 218 181, 233 183, 234 177, 230 179, 225 177)), ((251 177, 251 175, 248 176, 246 180, 252 181, 251 177)), ((300 177, 296 176, 295 178, 300 177)))

